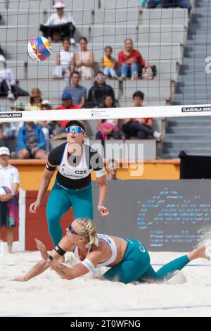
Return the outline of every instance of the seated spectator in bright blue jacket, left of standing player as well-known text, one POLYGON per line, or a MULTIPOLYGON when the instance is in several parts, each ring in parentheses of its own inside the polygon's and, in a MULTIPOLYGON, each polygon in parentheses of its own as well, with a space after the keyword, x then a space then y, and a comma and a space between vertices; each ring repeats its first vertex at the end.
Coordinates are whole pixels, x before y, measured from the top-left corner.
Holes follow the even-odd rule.
POLYGON ((18 132, 18 158, 47 158, 46 139, 41 125, 26 122, 18 132))

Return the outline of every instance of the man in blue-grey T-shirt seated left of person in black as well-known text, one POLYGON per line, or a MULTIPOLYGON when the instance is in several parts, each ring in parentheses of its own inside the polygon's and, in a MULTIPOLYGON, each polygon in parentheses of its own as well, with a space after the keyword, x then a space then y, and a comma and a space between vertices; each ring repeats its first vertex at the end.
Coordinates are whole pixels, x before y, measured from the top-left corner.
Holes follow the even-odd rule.
POLYGON ((78 71, 73 71, 71 74, 70 84, 63 89, 63 92, 68 92, 72 96, 72 104, 79 105, 83 108, 87 99, 87 89, 79 85, 80 74, 78 71))

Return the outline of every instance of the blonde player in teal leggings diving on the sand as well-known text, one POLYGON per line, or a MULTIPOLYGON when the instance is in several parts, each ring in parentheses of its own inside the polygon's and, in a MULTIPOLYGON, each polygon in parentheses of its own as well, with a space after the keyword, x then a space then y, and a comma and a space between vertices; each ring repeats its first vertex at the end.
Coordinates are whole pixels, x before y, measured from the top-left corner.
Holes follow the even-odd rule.
POLYGON ((191 253, 167 263, 155 272, 151 266, 148 251, 139 240, 97 234, 94 222, 87 218, 74 220, 66 229, 65 237, 51 251, 50 255, 42 242, 37 239, 35 242, 43 260, 25 276, 14 279, 18 282, 26 282, 49 267, 67 280, 72 280, 101 266, 110 267, 103 275, 106 280, 125 284, 134 281, 164 282, 170 280, 177 270, 181 270, 196 258, 210 260, 210 256, 207 256, 206 253, 206 249, 209 247, 202 244, 191 253), (79 261, 72 268, 58 262, 60 256, 63 256, 66 251, 72 251, 79 261))

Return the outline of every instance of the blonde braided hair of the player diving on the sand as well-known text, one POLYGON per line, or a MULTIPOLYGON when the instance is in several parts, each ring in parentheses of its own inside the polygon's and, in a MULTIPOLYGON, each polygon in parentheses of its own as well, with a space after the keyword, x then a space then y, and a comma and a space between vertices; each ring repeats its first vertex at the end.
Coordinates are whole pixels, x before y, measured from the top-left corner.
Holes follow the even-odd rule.
POLYGON ((96 227, 93 220, 91 220, 91 218, 77 218, 76 221, 82 227, 82 229, 80 229, 79 235, 82 235, 82 237, 87 239, 87 244, 85 246, 89 248, 89 246, 94 244, 98 247, 99 240, 96 234, 96 227))

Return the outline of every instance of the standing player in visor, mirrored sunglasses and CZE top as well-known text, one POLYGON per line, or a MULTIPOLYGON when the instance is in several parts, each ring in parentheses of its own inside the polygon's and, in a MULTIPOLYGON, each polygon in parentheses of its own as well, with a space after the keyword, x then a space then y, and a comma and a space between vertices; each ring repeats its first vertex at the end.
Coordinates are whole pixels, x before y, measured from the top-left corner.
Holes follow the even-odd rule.
POLYGON ((95 149, 84 144, 85 127, 81 122, 70 120, 66 125, 66 132, 68 141, 50 152, 37 200, 30 206, 30 213, 36 213, 57 168, 56 181, 46 206, 49 232, 54 245, 62 238, 60 219, 70 207, 73 208, 75 218, 93 219, 92 169, 95 170, 99 185, 98 212, 103 217, 109 213, 104 207, 108 187, 103 159, 95 149))

